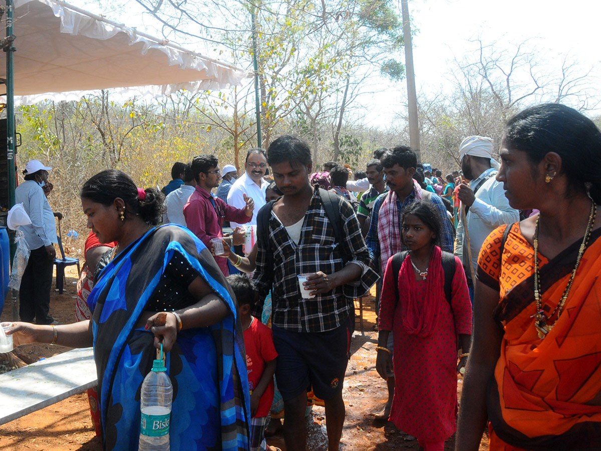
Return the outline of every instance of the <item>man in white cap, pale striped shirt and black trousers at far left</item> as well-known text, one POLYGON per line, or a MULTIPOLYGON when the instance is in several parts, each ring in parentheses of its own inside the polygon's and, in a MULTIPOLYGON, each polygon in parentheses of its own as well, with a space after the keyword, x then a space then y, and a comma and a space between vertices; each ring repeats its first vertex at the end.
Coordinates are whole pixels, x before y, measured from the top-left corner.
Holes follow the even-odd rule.
POLYGON ((52 286, 52 269, 56 251, 56 224, 54 216, 59 220, 61 213, 53 213, 46 199, 49 190, 48 171, 38 160, 31 160, 25 165, 25 182, 15 190, 16 203, 22 203, 31 224, 22 225, 21 230, 31 250, 29 261, 23 272, 19 288, 19 316, 21 321, 37 324, 58 324, 49 316, 50 287, 52 286), (45 192, 47 191, 47 192, 45 192))

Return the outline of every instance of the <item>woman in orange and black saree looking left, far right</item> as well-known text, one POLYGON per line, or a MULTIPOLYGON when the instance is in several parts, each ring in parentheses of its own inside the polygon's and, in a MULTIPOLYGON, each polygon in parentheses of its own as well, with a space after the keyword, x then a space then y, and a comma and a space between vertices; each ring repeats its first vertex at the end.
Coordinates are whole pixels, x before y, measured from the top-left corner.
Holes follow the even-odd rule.
POLYGON ((500 153, 509 203, 540 214, 481 249, 456 449, 477 450, 487 420, 491 451, 601 449, 601 132, 540 105, 500 153))

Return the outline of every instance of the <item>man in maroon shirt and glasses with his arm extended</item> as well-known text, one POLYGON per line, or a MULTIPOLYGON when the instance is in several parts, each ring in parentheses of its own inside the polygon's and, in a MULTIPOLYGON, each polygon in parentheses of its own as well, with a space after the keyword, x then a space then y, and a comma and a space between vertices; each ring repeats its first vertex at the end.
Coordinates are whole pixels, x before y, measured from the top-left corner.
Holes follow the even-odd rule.
MULTIPOLYGON (((195 156, 192 160, 192 173, 196 179, 196 189, 190 195, 188 203, 184 206, 184 217, 188 229, 198 236, 200 241, 210 249, 211 239, 223 236, 222 226, 224 221, 234 221, 240 224, 249 222, 255 203, 252 197, 244 200, 246 206, 237 209, 211 194, 211 189, 219 186, 221 169, 219 160, 215 155, 195 156)), ((225 275, 229 274, 227 258, 215 257, 219 268, 225 275)))

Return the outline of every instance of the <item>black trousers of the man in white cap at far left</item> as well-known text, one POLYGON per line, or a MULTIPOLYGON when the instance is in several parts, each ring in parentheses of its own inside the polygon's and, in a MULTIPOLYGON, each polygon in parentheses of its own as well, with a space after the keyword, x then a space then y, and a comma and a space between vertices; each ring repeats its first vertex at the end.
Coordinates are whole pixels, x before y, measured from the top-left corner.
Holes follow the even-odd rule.
POLYGON ((54 260, 48 257, 45 247, 31 251, 19 288, 19 316, 21 321, 50 324, 50 289, 54 260))

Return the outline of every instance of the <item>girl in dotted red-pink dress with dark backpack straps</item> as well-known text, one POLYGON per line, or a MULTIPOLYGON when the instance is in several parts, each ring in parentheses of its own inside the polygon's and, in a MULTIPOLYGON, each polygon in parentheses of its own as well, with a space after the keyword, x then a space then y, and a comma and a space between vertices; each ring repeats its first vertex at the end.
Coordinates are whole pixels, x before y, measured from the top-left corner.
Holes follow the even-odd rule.
POLYGON ((402 224, 408 251, 391 257, 384 272, 376 369, 386 379, 394 367, 391 422, 425 451, 443 451, 456 429, 457 372, 465 366, 472 332, 468 285, 460 260, 436 245, 441 219, 432 203, 407 206, 402 224), (400 269, 393 259, 402 262, 400 269), (391 331, 394 358, 386 348, 391 331))

